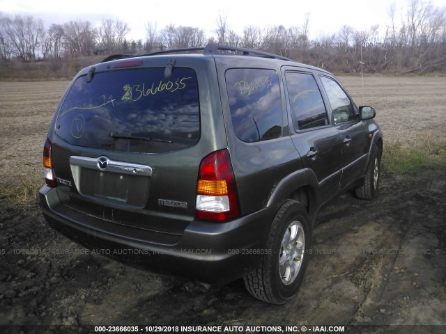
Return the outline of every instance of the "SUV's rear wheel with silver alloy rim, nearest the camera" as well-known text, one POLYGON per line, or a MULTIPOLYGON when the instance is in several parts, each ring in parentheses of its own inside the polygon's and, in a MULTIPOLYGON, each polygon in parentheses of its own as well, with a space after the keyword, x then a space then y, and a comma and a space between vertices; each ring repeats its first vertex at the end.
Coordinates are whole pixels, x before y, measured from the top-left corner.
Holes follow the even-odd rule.
POLYGON ((311 247, 307 210, 295 200, 287 200, 277 212, 268 237, 263 260, 248 273, 245 286, 261 301, 283 304, 297 294, 311 247))

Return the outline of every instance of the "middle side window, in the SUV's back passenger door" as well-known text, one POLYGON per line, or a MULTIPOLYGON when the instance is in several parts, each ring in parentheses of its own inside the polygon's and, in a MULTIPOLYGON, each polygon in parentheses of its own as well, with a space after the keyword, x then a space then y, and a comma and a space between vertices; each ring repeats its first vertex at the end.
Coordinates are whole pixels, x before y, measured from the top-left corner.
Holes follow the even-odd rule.
POLYGON ((285 78, 294 128, 303 130, 328 125, 325 104, 314 77, 311 74, 286 72, 285 78))

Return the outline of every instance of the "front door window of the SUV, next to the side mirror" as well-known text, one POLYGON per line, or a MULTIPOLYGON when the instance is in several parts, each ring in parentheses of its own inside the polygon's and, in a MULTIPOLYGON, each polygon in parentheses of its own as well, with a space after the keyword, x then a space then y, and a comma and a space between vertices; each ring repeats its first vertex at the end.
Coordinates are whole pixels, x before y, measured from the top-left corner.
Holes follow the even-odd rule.
POLYGON ((353 104, 339 84, 328 77, 321 77, 321 81, 332 106, 334 123, 339 124, 356 120, 353 104))

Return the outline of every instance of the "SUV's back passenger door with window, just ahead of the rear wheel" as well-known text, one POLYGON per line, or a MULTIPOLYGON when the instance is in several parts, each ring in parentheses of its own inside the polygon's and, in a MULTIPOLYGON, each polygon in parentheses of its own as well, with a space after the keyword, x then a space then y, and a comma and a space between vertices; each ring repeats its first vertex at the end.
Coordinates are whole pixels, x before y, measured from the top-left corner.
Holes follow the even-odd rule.
POLYGON ((341 136, 330 125, 314 75, 289 69, 284 71, 284 77, 293 125, 291 138, 304 167, 316 175, 321 201, 325 202, 339 188, 341 136))

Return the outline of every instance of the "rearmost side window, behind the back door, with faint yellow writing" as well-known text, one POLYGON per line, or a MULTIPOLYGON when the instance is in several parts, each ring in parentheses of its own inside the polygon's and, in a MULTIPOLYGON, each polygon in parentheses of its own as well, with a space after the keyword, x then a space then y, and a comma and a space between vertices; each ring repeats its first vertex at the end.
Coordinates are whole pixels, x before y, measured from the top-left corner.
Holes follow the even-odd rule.
POLYGON ((275 70, 227 70, 226 88, 232 124, 240 140, 252 143, 281 136, 282 100, 275 70))

